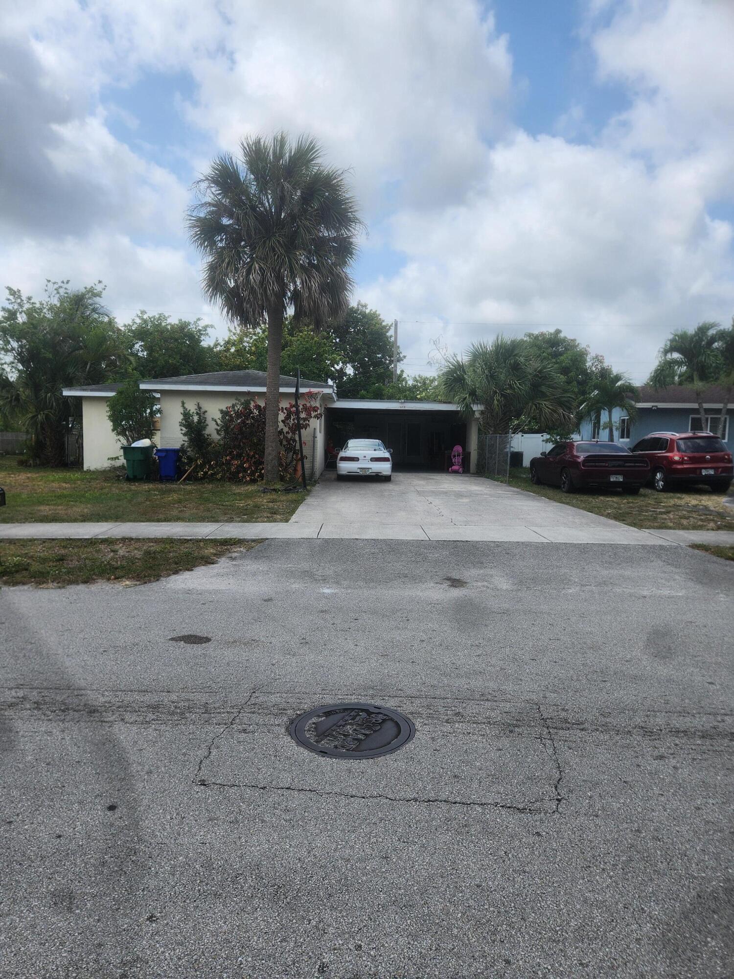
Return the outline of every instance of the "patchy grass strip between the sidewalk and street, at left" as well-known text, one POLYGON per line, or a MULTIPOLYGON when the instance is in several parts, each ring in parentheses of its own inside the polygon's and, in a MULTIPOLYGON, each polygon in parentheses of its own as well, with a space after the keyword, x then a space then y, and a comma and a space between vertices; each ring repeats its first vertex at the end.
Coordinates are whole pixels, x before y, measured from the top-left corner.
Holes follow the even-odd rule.
POLYGON ((140 584, 250 550, 256 540, 3 540, 0 583, 140 584))

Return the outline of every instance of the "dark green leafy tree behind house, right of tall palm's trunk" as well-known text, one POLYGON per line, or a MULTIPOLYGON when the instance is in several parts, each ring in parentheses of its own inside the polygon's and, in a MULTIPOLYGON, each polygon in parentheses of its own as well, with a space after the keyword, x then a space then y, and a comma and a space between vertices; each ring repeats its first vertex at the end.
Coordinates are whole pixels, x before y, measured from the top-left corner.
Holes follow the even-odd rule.
MULTIPOLYGON (((361 397, 375 385, 392 383, 392 325, 366 303, 349 306, 344 319, 330 324, 339 364, 340 397, 361 397)), ((398 349, 398 363, 405 359, 398 349)))

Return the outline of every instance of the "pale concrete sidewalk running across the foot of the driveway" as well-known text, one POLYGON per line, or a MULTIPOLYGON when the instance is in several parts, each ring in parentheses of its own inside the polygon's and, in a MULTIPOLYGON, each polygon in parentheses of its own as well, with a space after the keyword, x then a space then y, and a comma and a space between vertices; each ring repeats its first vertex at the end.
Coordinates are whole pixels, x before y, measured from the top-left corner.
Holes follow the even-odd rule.
POLYGON ((70 523, 0 524, 0 540, 182 537, 189 539, 345 539, 345 540, 495 540, 567 544, 734 544, 732 531, 638 531, 606 521, 607 526, 549 524, 457 525, 382 523, 369 520, 323 524, 271 523, 70 523))

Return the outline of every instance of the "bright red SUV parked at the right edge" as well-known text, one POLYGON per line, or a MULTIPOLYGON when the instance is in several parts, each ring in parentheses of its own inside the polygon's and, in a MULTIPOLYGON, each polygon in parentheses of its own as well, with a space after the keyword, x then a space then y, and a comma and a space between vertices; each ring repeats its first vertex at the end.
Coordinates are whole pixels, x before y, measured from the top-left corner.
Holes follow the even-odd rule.
POLYGON ((650 462, 659 492, 676 483, 702 483, 713 492, 726 492, 734 479, 731 452, 711 432, 653 432, 632 451, 650 462))

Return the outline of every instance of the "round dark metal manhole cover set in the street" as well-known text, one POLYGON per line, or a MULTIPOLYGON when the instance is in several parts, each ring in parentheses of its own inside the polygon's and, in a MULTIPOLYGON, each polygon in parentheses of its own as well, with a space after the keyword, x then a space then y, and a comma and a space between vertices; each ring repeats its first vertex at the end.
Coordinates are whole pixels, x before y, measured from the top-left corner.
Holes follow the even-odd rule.
POLYGON ((289 727, 299 745, 332 758, 375 758, 402 748, 412 721, 375 704, 329 704, 301 714, 289 727))

